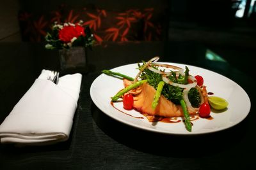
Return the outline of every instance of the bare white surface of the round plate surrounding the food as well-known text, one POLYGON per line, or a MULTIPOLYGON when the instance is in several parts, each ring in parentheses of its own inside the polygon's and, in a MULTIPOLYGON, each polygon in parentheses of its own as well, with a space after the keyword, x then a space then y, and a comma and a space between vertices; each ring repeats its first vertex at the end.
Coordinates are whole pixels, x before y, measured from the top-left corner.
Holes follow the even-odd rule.
MULTIPOLYGON (((162 63, 185 68, 184 64, 162 63)), ((125 113, 129 113, 134 117, 144 118, 134 118, 113 108, 113 106, 111 106, 111 97, 115 96, 116 92, 120 89, 123 89, 124 85, 122 80, 106 74, 100 74, 100 76, 93 81, 90 88, 92 101, 101 111, 115 120, 147 131, 161 132, 165 134, 205 134, 217 132, 239 124, 239 122, 248 115, 251 106, 250 99, 237 83, 221 74, 214 73, 207 69, 189 65, 186 66, 189 68, 189 74, 194 76, 200 74, 204 77, 204 85, 207 86, 207 92, 213 92, 213 96, 223 97, 228 101, 227 110, 221 113, 211 113, 212 120, 207 120, 205 118, 194 120, 192 132, 186 130, 182 121, 174 124, 164 122, 151 123, 138 111, 124 110, 122 103, 115 103, 115 106, 119 110, 124 110, 125 113)), ((138 69, 136 69, 137 67, 138 64, 129 64, 111 70, 135 77, 138 73, 138 69)))

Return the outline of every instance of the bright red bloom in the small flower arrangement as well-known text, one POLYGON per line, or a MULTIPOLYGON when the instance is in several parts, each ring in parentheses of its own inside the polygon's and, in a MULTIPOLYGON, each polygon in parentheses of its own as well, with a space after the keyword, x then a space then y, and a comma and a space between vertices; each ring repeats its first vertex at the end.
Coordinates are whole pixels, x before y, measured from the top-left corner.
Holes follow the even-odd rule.
POLYGON ((65 42, 65 43, 69 43, 72 38, 74 38, 74 37, 78 38, 81 35, 85 36, 85 33, 84 33, 84 28, 81 27, 80 25, 64 26, 59 31, 59 38, 60 38, 61 41, 65 42))

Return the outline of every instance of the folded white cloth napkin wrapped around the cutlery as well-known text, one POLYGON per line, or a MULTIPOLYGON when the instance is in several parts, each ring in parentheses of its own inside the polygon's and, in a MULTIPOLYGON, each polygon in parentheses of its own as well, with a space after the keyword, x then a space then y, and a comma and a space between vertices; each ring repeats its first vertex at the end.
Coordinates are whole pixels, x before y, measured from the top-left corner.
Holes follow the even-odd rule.
POLYGON ((1 143, 49 145, 68 139, 82 75, 62 76, 56 85, 47 80, 49 73, 42 71, 0 125, 1 143))

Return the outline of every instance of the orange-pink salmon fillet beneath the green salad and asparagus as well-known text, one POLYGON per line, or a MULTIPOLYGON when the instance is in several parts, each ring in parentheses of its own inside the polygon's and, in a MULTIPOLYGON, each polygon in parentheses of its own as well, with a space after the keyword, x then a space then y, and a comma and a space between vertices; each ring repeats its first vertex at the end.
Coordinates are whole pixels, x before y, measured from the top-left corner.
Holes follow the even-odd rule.
MULTIPOLYGON (((131 81, 124 79, 124 86, 131 84, 131 81)), ((136 89, 134 89, 136 91, 136 89)), ((166 99, 163 95, 159 98, 159 102, 156 109, 152 108, 152 102, 154 101, 154 95, 156 94, 156 89, 148 85, 148 83, 143 83, 137 92, 131 92, 134 96, 133 107, 143 114, 159 116, 159 117, 183 117, 183 111, 180 105, 176 105, 166 99)), ((196 113, 189 113, 190 115, 196 115, 196 113)))

